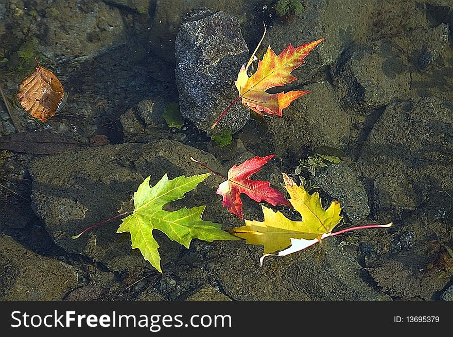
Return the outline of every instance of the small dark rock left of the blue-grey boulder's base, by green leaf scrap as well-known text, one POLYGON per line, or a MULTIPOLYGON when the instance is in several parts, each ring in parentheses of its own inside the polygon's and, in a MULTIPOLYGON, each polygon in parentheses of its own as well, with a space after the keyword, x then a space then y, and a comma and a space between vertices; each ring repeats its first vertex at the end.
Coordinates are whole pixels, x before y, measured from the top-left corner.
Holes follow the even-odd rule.
POLYGON ((167 123, 162 117, 168 103, 166 99, 152 97, 127 110, 119 119, 123 125, 123 140, 139 143, 168 138, 167 123))

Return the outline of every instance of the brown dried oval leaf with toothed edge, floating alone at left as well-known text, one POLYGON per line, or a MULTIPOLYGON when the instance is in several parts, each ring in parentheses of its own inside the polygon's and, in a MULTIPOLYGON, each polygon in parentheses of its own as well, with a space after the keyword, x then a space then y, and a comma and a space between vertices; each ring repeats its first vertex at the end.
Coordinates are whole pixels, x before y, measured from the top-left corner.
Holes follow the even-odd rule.
POLYGON ((18 98, 27 113, 45 123, 57 112, 64 98, 64 90, 54 73, 34 60, 37 66, 19 84, 18 98))

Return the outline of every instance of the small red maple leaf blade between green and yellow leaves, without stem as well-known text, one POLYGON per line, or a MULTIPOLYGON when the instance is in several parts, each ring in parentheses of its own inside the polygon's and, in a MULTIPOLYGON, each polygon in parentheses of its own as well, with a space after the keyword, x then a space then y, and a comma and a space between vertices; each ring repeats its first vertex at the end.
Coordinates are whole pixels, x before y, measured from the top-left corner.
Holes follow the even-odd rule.
POLYGON ((281 204, 291 207, 282 192, 270 187, 269 181, 249 179, 274 156, 253 157, 239 166, 233 165, 228 171, 228 180, 222 182, 216 192, 223 197, 222 205, 241 219, 243 219, 241 193, 247 194, 257 202, 267 201, 273 206, 281 204))

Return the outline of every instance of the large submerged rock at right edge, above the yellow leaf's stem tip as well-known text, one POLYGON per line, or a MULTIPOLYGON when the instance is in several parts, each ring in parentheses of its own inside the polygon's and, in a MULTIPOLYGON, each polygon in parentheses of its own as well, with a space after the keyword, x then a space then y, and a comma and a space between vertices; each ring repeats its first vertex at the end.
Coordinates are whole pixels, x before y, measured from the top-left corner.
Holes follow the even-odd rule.
POLYGON ((450 201, 440 191, 453 189, 451 144, 450 103, 428 97, 393 103, 361 148, 358 175, 377 179, 378 202, 395 213, 422 203, 447 209, 450 201), (398 181, 380 178, 382 172, 398 181))

